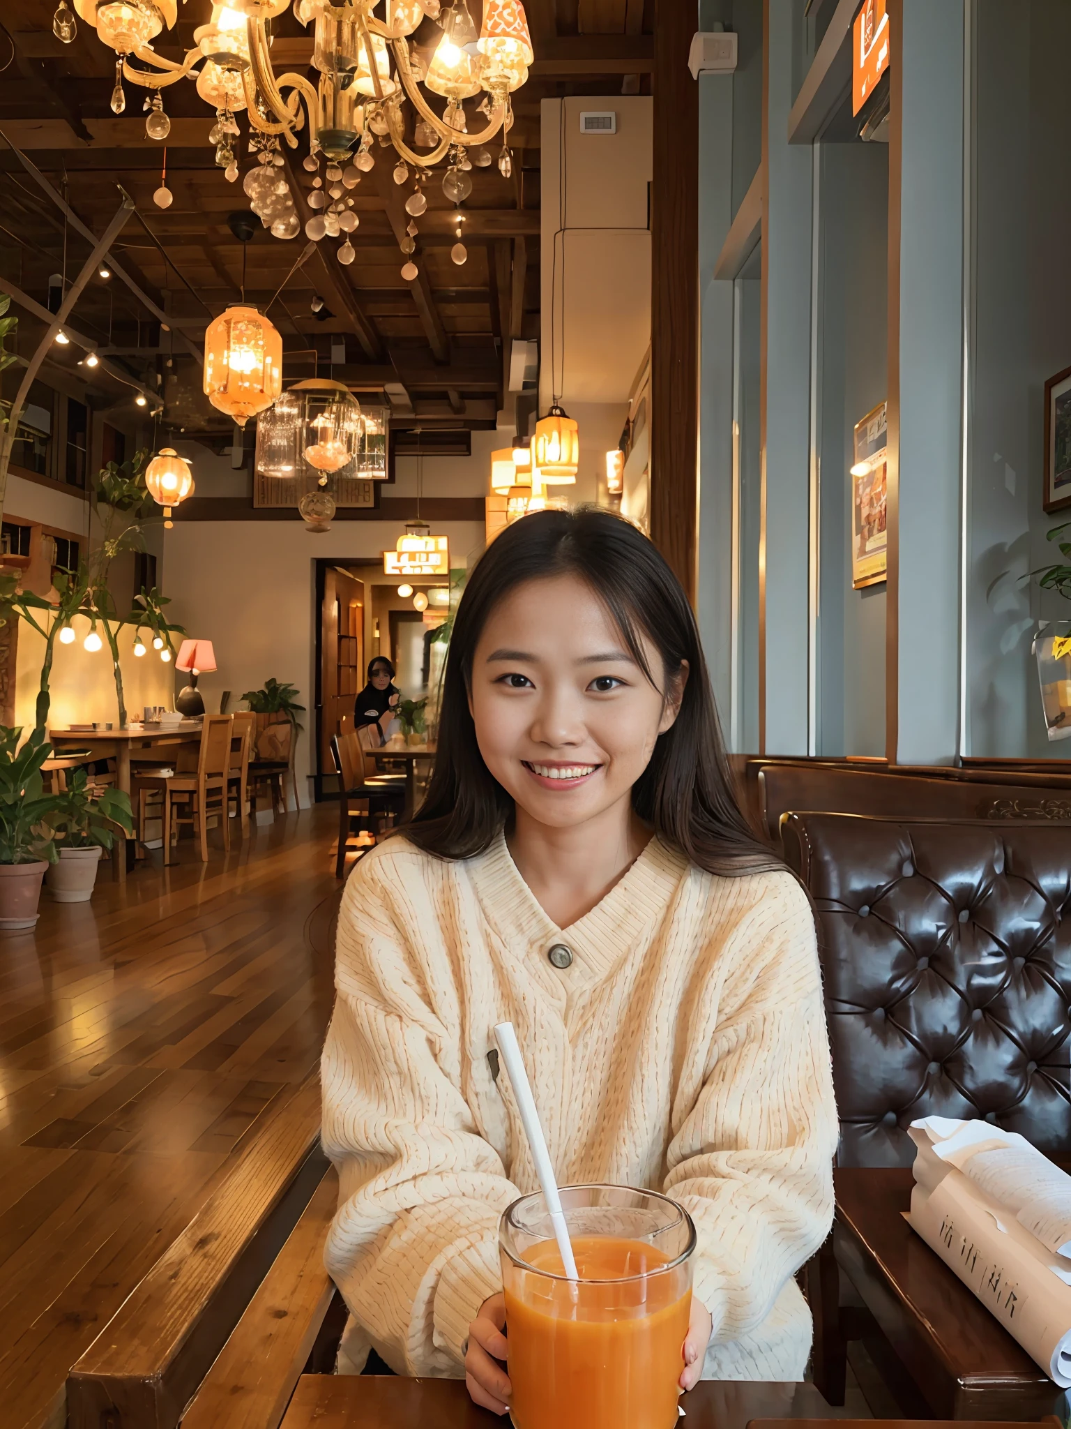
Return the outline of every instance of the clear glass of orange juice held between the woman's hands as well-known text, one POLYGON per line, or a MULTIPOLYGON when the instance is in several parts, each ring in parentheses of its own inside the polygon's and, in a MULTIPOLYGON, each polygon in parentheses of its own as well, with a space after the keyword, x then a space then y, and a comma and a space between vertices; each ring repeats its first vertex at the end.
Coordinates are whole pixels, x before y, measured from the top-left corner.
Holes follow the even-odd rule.
POLYGON ((668 1196, 564 1186, 578 1280, 537 1192, 506 1210, 510 1416, 516 1429, 674 1429, 695 1226, 668 1196))

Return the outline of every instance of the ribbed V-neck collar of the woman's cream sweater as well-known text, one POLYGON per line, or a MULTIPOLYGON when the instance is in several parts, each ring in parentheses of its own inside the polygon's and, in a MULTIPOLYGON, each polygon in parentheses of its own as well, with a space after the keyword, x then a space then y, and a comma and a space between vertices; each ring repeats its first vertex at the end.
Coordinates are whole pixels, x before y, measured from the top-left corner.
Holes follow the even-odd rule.
POLYGON ((486 853, 468 859, 466 870, 487 922, 507 946, 544 950, 560 942, 601 977, 665 915, 688 860, 653 836, 610 892, 568 927, 558 927, 538 903, 513 862, 504 833, 486 853))

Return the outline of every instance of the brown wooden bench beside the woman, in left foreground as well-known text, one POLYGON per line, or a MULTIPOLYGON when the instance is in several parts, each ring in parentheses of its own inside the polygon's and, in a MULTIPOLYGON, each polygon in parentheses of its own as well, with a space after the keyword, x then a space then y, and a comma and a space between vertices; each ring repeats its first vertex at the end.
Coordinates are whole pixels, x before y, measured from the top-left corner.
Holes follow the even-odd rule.
POLYGON ((310 1077, 73 1366, 70 1429, 177 1429, 200 1389, 194 1423, 277 1425, 331 1299, 321 1259, 337 1185, 327 1173, 310 1077), (236 1379, 250 1416, 208 1419, 236 1379), (267 1406, 260 1419, 256 1406, 267 1406))

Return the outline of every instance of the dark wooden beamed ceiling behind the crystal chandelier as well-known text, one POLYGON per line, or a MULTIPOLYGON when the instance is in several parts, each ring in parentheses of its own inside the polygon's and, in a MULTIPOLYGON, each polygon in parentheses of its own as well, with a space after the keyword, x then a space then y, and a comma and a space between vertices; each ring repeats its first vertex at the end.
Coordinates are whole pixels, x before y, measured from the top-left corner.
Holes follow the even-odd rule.
MULTIPOLYGON (((193 83, 183 81, 164 90, 171 117, 167 187, 174 201, 157 209, 151 196, 160 184, 163 146, 144 134, 143 93, 127 86, 127 110, 116 117, 109 107, 114 56, 83 23, 74 43, 61 44, 51 33, 54 9, 54 0, 3 6, 0 131, 93 234, 104 230, 121 201, 120 184, 133 197, 136 216, 113 256, 167 316, 170 332, 119 276, 90 282, 71 327, 99 344, 113 374, 161 390, 169 423, 221 436, 228 426, 201 397, 193 354, 206 323, 240 293, 243 244, 227 217, 248 207, 241 180, 230 184, 216 167, 207 140, 214 116, 193 83)), ((470 0, 470 10, 478 24, 481 0, 470 0)), ((184 0, 178 24, 161 36, 157 51, 178 59, 210 11, 210 0, 184 0)), ((283 242, 257 226, 248 243, 247 300, 263 310, 283 289, 270 316, 283 334, 286 374, 313 376, 318 363, 320 376, 383 389, 396 429, 493 427, 507 396, 503 377, 511 342, 538 337, 540 100, 650 93, 654 0, 528 0, 527 14, 536 63, 514 96, 513 176, 503 179, 497 166, 473 169, 463 266, 450 259, 453 204, 443 196, 440 174, 427 186, 428 209, 418 223, 418 277, 411 283, 401 277, 398 237, 408 216, 406 194, 391 177, 393 149, 376 150, 376 167, 354 190, 360 226, 351 234, 357 259, 348 269, 334 259, 331 240, 311 246, 294 273, 307 247, 304 234, 283 242), (310 307, 316 296, 324 300, 318 313, 310 307), (340 342, 346 362, 331 366, 340 342)), ((430 50, 438 33, 424 21, 414 40, 430 50)), ((276 49, 277 69, 308 63, 310 31, 290 11, 276 23, 276 49)), ((244 173, 251 156, 246 119, 237 119, 244 173)), ((304 183, 303 191, 310 177, 300 164, 306 151, 290 151, 291 189, 304 183)), ((46 306, 49 276, 63 272, 70 283, 90 247, 74 219, 64 219, 19 154, 0 141, 0 289, 7 280, 46 306)), ((29 352, 39 332, 40 322, 21 310, 19 349, 29 352)), ((77 369, 80 356, 76 343, 57 349, 41 376, 47 380, 59 364, 87 383, 99 406, 131 400, 106 366, 91 376, 77 369)))

